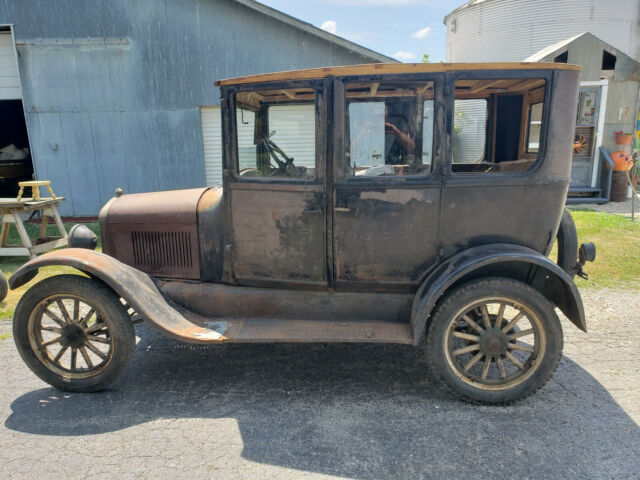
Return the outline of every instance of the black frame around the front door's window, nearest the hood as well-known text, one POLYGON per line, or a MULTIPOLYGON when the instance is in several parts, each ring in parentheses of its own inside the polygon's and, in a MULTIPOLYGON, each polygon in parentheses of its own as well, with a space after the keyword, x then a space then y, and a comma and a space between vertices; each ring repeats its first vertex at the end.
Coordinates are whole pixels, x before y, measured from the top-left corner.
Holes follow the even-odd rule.
MULTIPOLYGON (((323 124, 327 123, 326 108, 326 89, 322 80, 299 80, 289 82, 268 82, 268 83, 249 83, 233 86, 226 89, 225 100, 227 103, 224 109, 227 114, 224 127, 226 128, 227 140, 224 160, 223 160, 223 181, 233 184, 262 184, 262 185, 320 185, 324 183, 325 177, 325 153, 326 149, 326 128, 323 124), (243 177, 239 171, 239 152, 238 152, 238 128, 237 128, 237 104, 236 95, 239 92, 259 92, 260 90, 277 90, 291 88, 312 88, 314 92, 314 109, 315 109, 315 175, 313 178, 293 178, 293 177, 243 177), (322 98, 322 101, 319 99, 322 98)), ((308 102, 269 102, 271 105, 303 105, 308 102)), ((224 182, 223 182, 224 183, 224 182)))

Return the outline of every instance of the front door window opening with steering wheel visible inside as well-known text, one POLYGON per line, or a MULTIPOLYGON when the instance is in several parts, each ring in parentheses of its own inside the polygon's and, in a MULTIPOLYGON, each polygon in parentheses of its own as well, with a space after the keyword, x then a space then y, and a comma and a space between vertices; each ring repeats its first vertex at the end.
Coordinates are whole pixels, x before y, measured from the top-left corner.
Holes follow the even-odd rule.
POLYGON ((239 176, 293 180, 315 178, 313 89, 238 92, 236 130, 239 176))

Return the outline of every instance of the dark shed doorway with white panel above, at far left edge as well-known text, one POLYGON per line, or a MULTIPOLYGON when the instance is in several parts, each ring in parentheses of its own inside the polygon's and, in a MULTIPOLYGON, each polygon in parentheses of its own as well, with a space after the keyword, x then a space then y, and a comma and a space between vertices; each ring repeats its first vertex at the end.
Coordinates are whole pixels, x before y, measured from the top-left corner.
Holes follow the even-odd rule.
POLYGON ((11 30, 0 27, 0 197, 15 197, 18 182, 32 178, 16 49, 11 30))

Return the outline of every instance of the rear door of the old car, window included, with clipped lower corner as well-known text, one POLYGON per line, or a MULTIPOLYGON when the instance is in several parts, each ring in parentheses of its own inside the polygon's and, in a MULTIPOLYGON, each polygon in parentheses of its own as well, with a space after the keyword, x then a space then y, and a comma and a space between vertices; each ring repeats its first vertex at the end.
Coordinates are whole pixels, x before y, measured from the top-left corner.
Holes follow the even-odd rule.
POLYGON ((437 259, 440 83, 387 78, 338 80, 334 89, 336 289, 410 291, 437 259))

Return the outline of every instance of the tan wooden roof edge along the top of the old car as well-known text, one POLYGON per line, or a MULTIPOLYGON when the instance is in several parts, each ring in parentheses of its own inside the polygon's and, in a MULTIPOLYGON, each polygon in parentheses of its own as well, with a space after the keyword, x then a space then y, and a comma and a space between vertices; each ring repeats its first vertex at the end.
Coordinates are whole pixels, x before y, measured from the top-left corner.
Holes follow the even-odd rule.
POLYGON ((577 65, 542 62, 492 62, 492 63, 369 63, 341 67, 308 68, 283 72, 262 73, 245 77, 228 78, 215 82, 216 87, 247 83, 277 82, 286 80, 314 80, 329 76, 385 75, 402 73, 437 73, 482 70, 580 70, 577 65))

